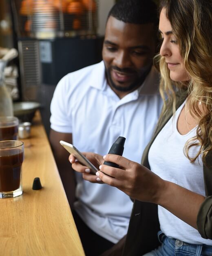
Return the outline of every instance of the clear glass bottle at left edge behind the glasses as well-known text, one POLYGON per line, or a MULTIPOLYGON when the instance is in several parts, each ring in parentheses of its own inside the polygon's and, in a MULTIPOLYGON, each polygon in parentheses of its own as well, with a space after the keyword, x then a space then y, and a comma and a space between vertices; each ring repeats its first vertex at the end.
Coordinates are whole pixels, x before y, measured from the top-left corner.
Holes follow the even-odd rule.
POLYGON ((13 101, 4 83, 4 68, 7 62, 0 59, 0 116, 13 116, 13 101))

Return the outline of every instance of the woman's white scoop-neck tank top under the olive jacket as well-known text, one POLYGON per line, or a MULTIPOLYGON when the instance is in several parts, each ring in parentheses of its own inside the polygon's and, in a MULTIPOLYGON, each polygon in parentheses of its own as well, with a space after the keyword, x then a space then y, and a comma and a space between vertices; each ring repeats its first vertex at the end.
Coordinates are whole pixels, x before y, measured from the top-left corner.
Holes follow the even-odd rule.
MULTIPOLYGON (((199 157, 199 161, 196 160, 192 164, 183 153, 186 141, 197 134, 197 127, 186 135, 181 135, 177 130, 177 120, 184 105, 185 102, 157 135, 149 150, 149 164, 151 170, 163 180, 168 180, 205 196, 201 157, 199 157)), ((198 149, 199 146, 193 146, 190 148, 189 155, 196 155, 198 149)), ((174 198, 170 198, 170 200, 174 200, 174 198)), ((212 245, 212 240, 202 238, 197 229, 183 222, 165 208, 158 206, 158 215, 161 231, 166 236, 186 243, 212 245)))

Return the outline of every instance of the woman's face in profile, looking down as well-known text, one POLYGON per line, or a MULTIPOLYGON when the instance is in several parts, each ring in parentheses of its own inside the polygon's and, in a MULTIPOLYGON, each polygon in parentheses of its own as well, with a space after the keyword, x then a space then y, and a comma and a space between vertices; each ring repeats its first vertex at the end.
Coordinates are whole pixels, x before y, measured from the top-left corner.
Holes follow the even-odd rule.
POLYGON ((179 45, 172 33, 172 27, 170 21, 166 18, 166 10, 164 8, 160 14, 159 31, 163 38, 160 55, 166 60, 167 67, 170 70, 170 78, 173 81, 188 81, 189 76, 179 52, 179 45))

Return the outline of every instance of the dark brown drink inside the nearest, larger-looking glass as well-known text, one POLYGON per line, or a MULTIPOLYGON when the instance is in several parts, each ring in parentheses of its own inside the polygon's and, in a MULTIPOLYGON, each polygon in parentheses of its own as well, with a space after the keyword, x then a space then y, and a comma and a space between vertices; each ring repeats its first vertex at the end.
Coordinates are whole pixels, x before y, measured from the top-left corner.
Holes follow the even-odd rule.
POLYGON ((20 186, 23 153, 19 148, 14 155, 0 156, 0 192, 14 191, 20 186))

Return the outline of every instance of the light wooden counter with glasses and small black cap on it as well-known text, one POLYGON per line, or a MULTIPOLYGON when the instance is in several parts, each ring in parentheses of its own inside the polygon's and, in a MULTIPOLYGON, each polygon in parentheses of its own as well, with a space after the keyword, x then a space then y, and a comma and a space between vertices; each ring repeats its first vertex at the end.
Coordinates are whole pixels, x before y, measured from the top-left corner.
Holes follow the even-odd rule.
POLYGON ((23 194, 0 199, 0 255, 84 256, 39 112, 31 137, 22 141, 23 194), (35 177, 41 190, 32 190, 35 177))

